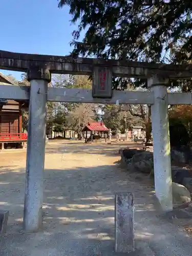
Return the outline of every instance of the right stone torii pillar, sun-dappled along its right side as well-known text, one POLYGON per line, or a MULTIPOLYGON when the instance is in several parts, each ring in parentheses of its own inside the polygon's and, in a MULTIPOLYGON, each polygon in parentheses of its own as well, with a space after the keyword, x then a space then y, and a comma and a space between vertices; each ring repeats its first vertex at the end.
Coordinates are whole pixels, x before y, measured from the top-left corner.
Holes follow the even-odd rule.
POLYGON ((148 79, 154 93, 152 132, 154 149, 155 193, 163 211, 173 209, 172 174, 168 124, 167 79, 157 76, 148 79))

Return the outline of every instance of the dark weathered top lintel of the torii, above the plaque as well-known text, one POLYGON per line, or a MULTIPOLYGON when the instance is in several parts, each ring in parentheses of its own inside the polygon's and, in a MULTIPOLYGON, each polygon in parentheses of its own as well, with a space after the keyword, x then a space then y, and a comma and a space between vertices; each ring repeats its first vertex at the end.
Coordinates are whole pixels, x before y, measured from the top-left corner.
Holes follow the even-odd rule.
POLYGON ((192 65, 74 58, 72 56, 38 55, 0 50, 0 69, 5 70, 27 72, 33 68, 40 68, 55 74, 92 75, 95 66, 111 69, 113 76, 116 77, 149 78, 153 75, 170 78, 192 77, 192 65))

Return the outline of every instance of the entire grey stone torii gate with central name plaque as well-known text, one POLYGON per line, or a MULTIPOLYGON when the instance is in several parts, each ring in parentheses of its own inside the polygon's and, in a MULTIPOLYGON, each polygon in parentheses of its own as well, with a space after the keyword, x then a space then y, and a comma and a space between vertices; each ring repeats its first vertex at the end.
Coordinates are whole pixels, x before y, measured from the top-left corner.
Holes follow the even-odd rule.
POLYGON ((168 78, 189 78, 192 65, 73 58, 0 51, 0 69, 27 72, 30 87, 0 85, 0 98, 29 100, 24 228, 42 223, 47 101, 151 104, 156 197, 172 210, 168 104, 192 104, 191 93, 167 93, 168 78), (51 73, 93 75, 93 90, 48 88, 51 73), (147 78, 151 92, 112 91, 112 76, 147 78))

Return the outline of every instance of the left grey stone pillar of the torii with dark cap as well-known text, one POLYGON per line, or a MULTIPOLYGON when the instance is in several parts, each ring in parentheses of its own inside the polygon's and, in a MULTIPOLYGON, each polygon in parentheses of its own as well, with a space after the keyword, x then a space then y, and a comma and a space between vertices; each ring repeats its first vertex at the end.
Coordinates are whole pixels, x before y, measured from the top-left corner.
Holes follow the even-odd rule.
POLYGON ((37 231, 42 225, 46 114, 49 70, 32 68, 28 72, 31 84, 26 163, 24 229, 37 231))

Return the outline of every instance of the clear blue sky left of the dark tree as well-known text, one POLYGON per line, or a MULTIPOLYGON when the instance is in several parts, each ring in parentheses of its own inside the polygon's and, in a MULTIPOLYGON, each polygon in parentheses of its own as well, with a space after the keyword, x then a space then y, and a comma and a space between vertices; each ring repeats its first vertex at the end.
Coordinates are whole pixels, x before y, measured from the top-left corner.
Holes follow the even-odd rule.
MULTIPOLYGON (((48 55, 73 50, 69 44, 77 25, 70 22, 68 6, 59 9, 57 0, 0 0, 0 10, 0 50, 48 55)), ((0 72, 20 80, 20 72, 0 72)))

